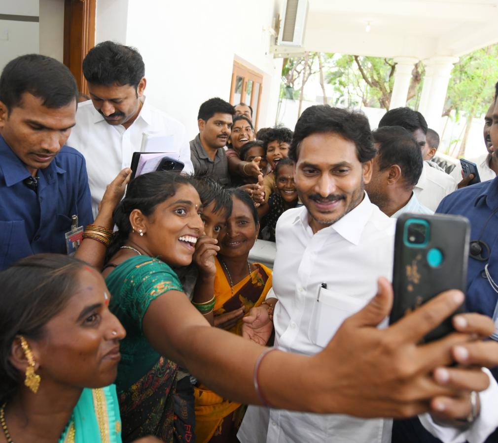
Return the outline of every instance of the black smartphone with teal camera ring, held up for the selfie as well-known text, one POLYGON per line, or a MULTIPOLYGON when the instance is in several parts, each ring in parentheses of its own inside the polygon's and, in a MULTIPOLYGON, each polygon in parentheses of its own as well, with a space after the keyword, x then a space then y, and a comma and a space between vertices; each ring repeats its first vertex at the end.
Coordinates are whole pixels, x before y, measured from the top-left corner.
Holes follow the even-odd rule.
MULTIPOLYGON (((465 293, 470 223, 462 216, 405 213, 397 219, 394 240, 392 324, 441 292, 465 293)), ((465 311, 464 305, 456 313, 465 311)), ((424 338, 437 340, 453 331, 451 317, 424 338)))

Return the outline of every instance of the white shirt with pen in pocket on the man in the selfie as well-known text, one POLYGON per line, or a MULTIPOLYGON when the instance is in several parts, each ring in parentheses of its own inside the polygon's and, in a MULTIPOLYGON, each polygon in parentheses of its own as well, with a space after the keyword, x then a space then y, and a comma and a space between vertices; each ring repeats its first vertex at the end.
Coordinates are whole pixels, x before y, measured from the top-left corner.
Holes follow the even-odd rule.
MULTIPOLYGON (((285 211, 276 226, 274 294, 267 295, 278 298, 275 346, 306 355, 320 352, 342 322, 375 295, 377 278, 391 279, 394 227, 395 220, 367 194, 351 212, 316 234, 306 207, 285 211)), ((495 388, 498 392, 496 383, 495 388)), ((495 410, 490 411, 493 417, 495 410)), ((445 428, 434 430, 431 423, 429 418, 424 426, 439 438, 446 435, 445 428)), ((242 443, 389 443, 391 429, 389 419, 249 406, 237 437, 242 443)))

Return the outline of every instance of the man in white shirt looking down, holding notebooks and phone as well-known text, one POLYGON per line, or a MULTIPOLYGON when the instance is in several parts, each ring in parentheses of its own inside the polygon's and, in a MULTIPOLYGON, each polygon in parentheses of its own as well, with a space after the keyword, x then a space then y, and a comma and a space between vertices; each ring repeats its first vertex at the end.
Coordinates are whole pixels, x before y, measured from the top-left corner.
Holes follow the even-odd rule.
POLYGON ((94 215, 106 186, 130 167, 144 136, 163 136, 167 155, 193 173, 185 127, 145 99, 145 66, 136 49, 102 42, 83 60, 83 74, 92 101, 78 105, 68 144, 87 162, 94 215))

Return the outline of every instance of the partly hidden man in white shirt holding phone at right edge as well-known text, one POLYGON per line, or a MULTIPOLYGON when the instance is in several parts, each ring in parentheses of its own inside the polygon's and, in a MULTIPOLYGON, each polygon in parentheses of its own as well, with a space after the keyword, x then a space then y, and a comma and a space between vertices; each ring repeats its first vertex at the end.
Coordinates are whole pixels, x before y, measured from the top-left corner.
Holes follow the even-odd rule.
MULTIPOLYGON (((473 162, 477 165, 477 171, 479 173, 479 178, 481 181, 492 180, 497 176, 498 172, 498 158, 495 153, 495 148, 493 147, 493 143, 491 142, 490 137, 490 129, 493 124, 493 109, 495 107, 495 103, 492 103, 491 106, 486 111, 486 115, 484 116, 484 144, 486 146, 487 153, 482 154, 479 157, 469 159, 470 162, 473 162)), ((462 177, 462 167, 460 163, 455 166, 453 171, 451 172, 451 176, 458 183, 458 188, 465 187, 469 185, 469 182, 474 178, 462 177)))

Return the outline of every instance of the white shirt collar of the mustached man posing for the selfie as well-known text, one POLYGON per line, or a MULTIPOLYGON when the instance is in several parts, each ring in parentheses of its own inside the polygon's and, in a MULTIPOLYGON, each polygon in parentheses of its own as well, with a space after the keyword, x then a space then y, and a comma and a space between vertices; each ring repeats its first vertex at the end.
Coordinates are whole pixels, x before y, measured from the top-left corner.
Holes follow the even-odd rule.
MULTIPOLYGON (((296 213, 293 224, 301 222, 304 230, 308 232, 311 236, 313 231, 309 226, 309 213, 305 206, 299 208, 300 210, 296 213)), ((341 237, 354 245, 358 245, 360 238, 362 236, 363 229, 367 224, 370 215, 372 214, 373 205, 370 202, 370 198, 367 192, 364 191, 363 200, 353 208, 350 212, 340 218, 338 221, 330 226, 320 229, 316 234, 327 235, 331 230, 337 232, 341 237)))

